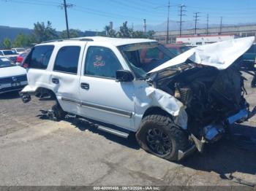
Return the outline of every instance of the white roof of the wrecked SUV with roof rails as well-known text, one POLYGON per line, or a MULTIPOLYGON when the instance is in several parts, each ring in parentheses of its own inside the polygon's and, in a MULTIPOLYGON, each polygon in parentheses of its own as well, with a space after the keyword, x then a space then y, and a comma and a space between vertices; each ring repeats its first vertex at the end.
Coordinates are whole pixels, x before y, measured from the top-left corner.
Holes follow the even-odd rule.
POLYGON ((74 39, 57 39, 43 43, 51 43, 51 42, 67 42, 67 41, 80 41, 80 42, 105 42, 113 44, 118 47, 125 44, 135 44, 135 43, 143 43, 143 42, 157 42, 156 40, 151 39, 123 39, 123 38, 110 38, 105 36, 86 36, 74 39))

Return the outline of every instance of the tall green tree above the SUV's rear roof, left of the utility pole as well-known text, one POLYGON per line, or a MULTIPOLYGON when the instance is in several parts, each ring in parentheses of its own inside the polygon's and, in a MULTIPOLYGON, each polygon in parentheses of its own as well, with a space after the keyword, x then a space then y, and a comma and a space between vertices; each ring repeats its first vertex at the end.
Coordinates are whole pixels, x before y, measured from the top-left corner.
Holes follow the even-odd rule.
POLYGON ((56 33, 56 29, 51 26, 50 21, 45 23, 34 23, 34 39, 36 42, 44 42, 51 39, 57 39, 58 35, 56 33))

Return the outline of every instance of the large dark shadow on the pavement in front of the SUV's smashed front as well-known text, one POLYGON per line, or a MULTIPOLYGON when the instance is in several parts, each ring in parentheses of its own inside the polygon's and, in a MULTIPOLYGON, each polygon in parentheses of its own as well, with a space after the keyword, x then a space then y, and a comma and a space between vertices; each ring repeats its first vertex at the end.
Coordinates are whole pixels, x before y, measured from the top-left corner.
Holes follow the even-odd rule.
POLYGON ((214 171, 222 179, 233 179, 235 172, 256 176, 256 128, 235 125, 232 132, 230 139, 206 145, 202 154, 195 153, 181 164, 195 170, 214 171))

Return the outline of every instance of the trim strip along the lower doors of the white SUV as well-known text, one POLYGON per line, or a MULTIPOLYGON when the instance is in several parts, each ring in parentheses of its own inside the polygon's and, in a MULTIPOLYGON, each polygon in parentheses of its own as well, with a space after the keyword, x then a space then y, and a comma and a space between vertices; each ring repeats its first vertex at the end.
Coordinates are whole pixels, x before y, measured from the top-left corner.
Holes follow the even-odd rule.
POLYGON ((101 106, 101 105, 98 105, 98 104, 91 104, 91 103, 88 103, 88 102, 85 102, 85 101, 78 101, 78 100, 75 100, 75 99, 72 99, 72 98, 66 98, 66 97, 61 97, 61 100, 62 101, 67 101, 69 103, 75 103, 75 104, 78 104, 79 106, 83 106, 83 107, 86 107, 86 108, 89 108, 89 109, 94 109, 94 110, 98 110, 98 111, 101 111, 101 112, 108 112, 110 114, 116 114, 116 115, 119 115, 121 117, 128 117, 128 118, 132 117, 132 112, 127 112, 127 111, 124 111, 122 109, 115 109, 113 107, 101 106))

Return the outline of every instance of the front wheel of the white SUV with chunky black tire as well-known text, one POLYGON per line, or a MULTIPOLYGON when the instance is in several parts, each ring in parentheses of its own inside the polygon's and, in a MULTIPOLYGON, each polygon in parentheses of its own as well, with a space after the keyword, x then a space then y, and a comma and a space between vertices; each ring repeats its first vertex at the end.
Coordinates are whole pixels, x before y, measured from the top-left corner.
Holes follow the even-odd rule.
POLYGON ((142 149, 170 161, 178 160, 178 150, 185 151, 189 144, 187 133, 162 114, 144 117, 136 139, 142 149))

